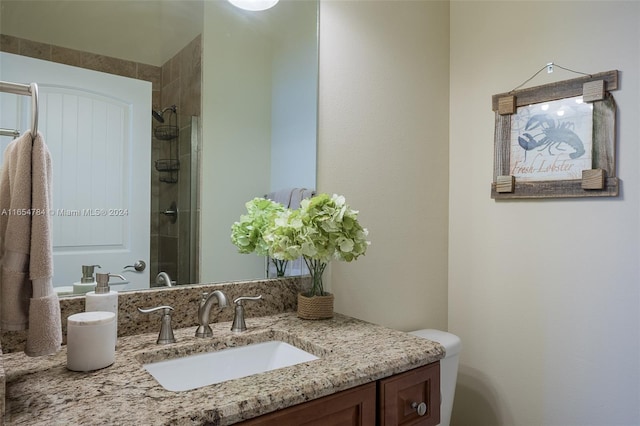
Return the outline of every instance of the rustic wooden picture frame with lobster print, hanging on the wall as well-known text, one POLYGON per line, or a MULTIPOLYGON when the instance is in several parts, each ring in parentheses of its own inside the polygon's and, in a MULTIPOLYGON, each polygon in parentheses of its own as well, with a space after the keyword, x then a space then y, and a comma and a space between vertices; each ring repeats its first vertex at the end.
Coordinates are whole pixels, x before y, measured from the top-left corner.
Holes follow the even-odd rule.
POLYGON ((617 89, 613 70, 494 95, 491 198, 618 196, 617 89))

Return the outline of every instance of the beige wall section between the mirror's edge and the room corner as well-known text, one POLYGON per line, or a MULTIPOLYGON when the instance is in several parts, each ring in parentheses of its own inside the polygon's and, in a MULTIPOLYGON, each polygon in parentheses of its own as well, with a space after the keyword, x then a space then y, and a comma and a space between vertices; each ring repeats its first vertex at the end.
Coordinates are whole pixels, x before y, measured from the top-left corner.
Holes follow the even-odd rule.
POLYGON ((321 2, 318 188, 372 241, 330 287, 338 312, 403 330, 447 327, 448 38, 448 2, 321 2))

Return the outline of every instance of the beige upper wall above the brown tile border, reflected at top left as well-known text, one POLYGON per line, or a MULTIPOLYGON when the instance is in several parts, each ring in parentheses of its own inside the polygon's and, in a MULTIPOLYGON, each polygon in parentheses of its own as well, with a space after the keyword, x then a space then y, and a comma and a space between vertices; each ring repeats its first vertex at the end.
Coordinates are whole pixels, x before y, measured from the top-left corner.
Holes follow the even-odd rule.
POLYGON ((202 33, 196 1, 1 0, 2 33, 161 66, 202 33))

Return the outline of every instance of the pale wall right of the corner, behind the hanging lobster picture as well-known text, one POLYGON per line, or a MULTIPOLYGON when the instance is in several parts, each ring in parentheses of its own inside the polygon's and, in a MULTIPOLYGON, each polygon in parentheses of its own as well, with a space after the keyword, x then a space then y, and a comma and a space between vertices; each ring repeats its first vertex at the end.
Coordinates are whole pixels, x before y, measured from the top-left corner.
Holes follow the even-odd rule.
POLYGON ((453 424, 640 424, 639 28, 637 1, 451 3, 453 424), (621 71, 618 198, 490 198, 491 96, 551 61, 621 71))

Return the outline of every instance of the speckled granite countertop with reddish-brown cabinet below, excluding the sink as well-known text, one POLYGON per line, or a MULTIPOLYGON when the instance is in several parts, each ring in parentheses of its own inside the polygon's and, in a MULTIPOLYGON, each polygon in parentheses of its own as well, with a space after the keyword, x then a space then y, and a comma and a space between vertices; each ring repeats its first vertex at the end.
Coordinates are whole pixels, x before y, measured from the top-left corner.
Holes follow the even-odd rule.
POLYGON ((307 321, 290 310, 263 312, 248 315, 242 333, 224 319, 211 324, 211 338, 195 337, 189 325, 174 330, 176 343, 158 345, 156 318, 154 331, 118 338, 113 365, 88 373, 66 368, 65 346, 40 358, 4 354, 5 425, 287 425, 300 418, 326 425, 347 418, 388 426, 417 420, 417 410, 425 411, 420 424, 439 423, 444 348, 436 342, 340 314, 307 321), (319 359, 180 392, 164 389, 143 367, 271 340, 319 359))

